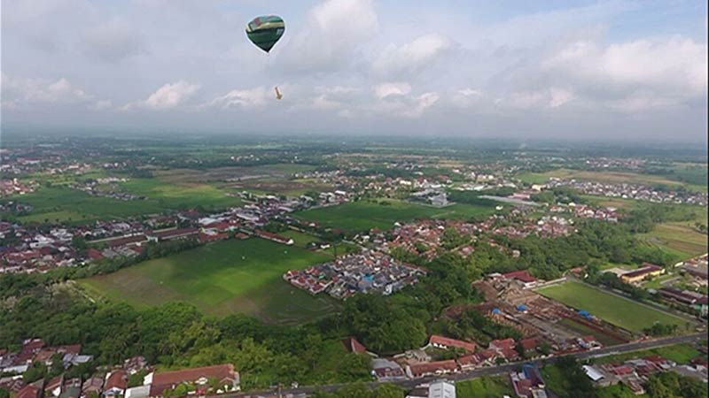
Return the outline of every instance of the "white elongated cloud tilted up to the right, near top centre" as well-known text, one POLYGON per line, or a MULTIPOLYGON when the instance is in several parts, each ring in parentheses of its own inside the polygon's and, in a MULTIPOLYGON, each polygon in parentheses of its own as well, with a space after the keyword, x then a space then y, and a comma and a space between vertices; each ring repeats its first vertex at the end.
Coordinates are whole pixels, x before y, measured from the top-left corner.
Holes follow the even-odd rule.
POLYGON ((452 47, 453 41, 442 34, 425 34, 399 47, 389 44, 372 69, 380 74, 417 72, 452 47))

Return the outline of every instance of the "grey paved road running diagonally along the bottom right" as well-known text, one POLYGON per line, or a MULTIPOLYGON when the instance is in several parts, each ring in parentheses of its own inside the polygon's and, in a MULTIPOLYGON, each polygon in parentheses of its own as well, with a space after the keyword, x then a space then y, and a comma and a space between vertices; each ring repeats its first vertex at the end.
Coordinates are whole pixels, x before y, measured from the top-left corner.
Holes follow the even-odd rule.
MULTIPOLYGON (((692 343, 692 342, 697 342, 697 341, 702 341, 706 339, 706 333, 696 333, 696 334, 690 334, 687 336, 674 336, 674 337, 666 337, 666 338, 661 338, 661 339, 653 339, 653 340, 646 340, 646 341, 636 341, 636 342, 630 342, 627 344, 622 344, 619 346, 613 346, 613 347, 607 347, 607 348, 600 348, 596 349, 593 351, 583 351, 580 353, 575 353, 573 356, 576 356, 579 359, 588 359, 592 357, 601 357, 601 356, 613 356, 617 354, 622 354, 622 353, 627 353, 627 352, 632 352, 632 351, 639 351, 643 349, 649 349, 649 348, 658 348, 658 347, 663 347, 663 346, 670 346, 674 344, 680 344, 680 343, 692 343)), ((526 363, 534 363, 534 364, 550 364, 556 361, 556 357, 549 357, 549 358, 541 358, 541 359, 534 359, 531 361, 526 361, 526 363)), ((430 377, 425 377, 425 378, 418 378, 418 379, 406 379, 406 380, 400 380, 400 381, 395 381, 393 384, 396 384, 400 387, 404 388, 413 388, 417 387, 418 385, 431 382, 434 379, 448 379, 448 380, 455 380, 455 381, 462 381, 462 380, 467 380, 467 379, 477 379, 482 376, 497 376, 497 375, 503 375, 503 374, 508 374, 510 371, 514 371, 519 368, 519 365, 521 363, 513 363, 513 364, 502 364, 498 366, 489 366, 485 368, 479 368, 475 369, 472 371, 462 371, 460 373, 455 373, 455 374, 450 374, 447 376, 430 376, 430 377)), ((369 383, 365 383, 367 387, 374 388, 377 387, 380 383, 377 381, 372 381, 369 383)), ((285 394, 311 394, 315 392, 316 390, 322 390, 322 391, 327 391, 327 392, 333 392, 337 391, 339 388, 347 386, 346 384, 331 384, 331 385, 325 385, 325 386, 306 386, 306 387, 298 387, 298 388, 284 388, 281 391, 281 394, 285 396, 285 394)), ((270 390, 265 390, 265 391, 259 391, 259 392, 252 392, 252 393, 240 393, 240 394, 223 394, 219 395, 222 398, 255 398, 255 397, 278 397, 278 392, 276 389, 270 389, 270 390)))

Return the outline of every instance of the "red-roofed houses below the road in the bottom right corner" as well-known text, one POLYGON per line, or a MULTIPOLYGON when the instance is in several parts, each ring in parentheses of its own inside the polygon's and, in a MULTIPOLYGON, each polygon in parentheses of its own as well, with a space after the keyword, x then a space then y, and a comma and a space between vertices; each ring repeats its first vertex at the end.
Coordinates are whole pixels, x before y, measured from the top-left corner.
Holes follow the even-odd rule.
POLYGON ((690 364, 678 365, 662 356, 646 356, 625 362, 583 365, 583 370, 596 386, 608 387, 619 383, 627 386, 634 394, 645 394, 643 384, 648 376, 661 371, 674 371, 682 376, 690 376, 706 381, 709 379, 706 360, 697 358, 690 364))

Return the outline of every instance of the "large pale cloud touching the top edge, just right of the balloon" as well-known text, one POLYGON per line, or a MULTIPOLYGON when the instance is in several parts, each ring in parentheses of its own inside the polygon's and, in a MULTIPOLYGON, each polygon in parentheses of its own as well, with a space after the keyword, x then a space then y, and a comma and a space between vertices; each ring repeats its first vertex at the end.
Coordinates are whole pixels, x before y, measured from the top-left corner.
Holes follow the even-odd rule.
POLYGON ((326 0, 308 13, 308 22, 288 42, 279 65, 297 73, 338 70, 353 61, 377 30, 373 0, 326 0))

